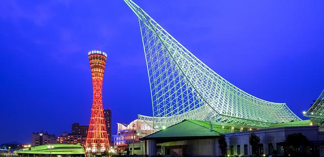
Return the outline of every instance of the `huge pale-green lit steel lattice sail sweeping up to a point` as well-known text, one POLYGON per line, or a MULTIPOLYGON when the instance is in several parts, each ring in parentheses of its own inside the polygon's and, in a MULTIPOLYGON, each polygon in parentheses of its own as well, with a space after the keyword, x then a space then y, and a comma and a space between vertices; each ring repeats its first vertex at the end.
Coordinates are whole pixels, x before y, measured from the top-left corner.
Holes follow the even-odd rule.
POLYGON ((139 115, 153 127, 184 119, 266 127, 300 121, 285 103, 254 97, 201 62, 131 0, 139 18, 151 89, 153 117, 139 115))

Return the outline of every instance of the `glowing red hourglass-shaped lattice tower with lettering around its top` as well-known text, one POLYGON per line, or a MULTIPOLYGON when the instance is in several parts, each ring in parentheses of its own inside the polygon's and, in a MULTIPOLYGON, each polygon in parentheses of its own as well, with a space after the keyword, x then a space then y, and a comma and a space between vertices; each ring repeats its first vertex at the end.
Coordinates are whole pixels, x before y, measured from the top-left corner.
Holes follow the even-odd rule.
POLYGON ((87 154, 101 154, 109 149, 102 107, 102 82, 107 54, 101 51, 90 51, 88 55, 92 74, 93 103, 85 149, 87 154))

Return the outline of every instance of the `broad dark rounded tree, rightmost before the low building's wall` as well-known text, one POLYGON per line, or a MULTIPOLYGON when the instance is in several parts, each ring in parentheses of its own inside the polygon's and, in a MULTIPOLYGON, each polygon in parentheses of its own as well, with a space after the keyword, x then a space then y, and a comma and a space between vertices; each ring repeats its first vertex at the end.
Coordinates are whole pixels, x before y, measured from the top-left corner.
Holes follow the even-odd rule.
POLYGON ((303 154, 300 146, 307 146, 309 141, 302 133, 293 133, 287 136, 286 144, 291 156, 299 156, 303 154))

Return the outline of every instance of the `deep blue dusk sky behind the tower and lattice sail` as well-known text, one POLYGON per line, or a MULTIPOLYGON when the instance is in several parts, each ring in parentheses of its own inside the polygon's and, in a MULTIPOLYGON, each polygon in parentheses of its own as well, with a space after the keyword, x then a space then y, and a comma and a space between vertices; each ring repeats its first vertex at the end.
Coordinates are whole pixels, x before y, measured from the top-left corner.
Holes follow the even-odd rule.
MULTIPOLYGON (((135 1, 236 87, 301 119, 324 89, 324 1, 135 1)), ((122 0, 0 2, 0 144, 89 125, 88 51, 108 54, 103 106, 116 123, 152 115, 137 16, 122 0)))

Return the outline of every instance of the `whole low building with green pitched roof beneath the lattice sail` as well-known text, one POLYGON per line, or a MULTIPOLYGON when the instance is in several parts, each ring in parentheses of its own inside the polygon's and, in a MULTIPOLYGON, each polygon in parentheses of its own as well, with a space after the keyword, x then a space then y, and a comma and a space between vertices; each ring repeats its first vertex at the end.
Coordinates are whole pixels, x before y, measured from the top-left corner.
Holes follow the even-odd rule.
POLYGON ((286 139, 294 133, 301 133, 309 140, 307 145, 300 147, 303 156, 324 156, 324 127, 314 125, 310 120, 250 129, 184 120, 140 138, 143 140, 142 148, 134 145, 130 151, 142 150, 148 156, 221 156, 218 139, 224 134, 228 145, 227 156, 255 156, 249 142, 252 133, 260 138, 259 152, 262 156, 291 156, 286 139))

